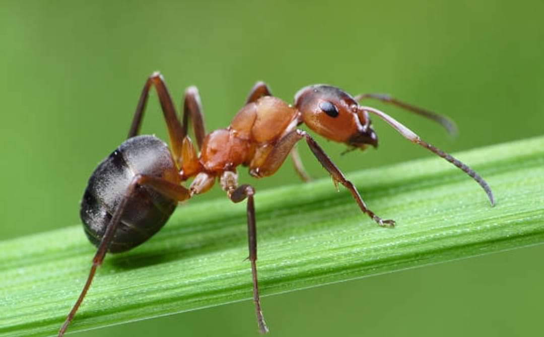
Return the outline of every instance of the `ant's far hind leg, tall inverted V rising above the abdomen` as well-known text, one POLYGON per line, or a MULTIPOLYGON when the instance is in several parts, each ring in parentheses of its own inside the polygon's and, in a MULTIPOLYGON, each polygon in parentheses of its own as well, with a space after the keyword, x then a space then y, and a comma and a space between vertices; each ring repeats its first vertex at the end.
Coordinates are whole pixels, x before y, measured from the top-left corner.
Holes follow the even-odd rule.
POLYGON ((132 119, 132 125, 128 131, 128 138, 134 137, 140 130, 141 121, 144 117, 145 106, 147 103, 147 97, 149 97, 149 90, 151 85, 157 89, 159 96, 160 106, 163 109, 164 119, 166 120, 166 127, 168 128, 168 134, 170 137, 170 146, 172 147, 172 155, 174 161, 179 165, 182 156, 182 140, 186 133, 180 124, 180 120, 177 118, 174 102, 170 97, 170 93, 164 83, 164 78, 160 73, 153 72, 147 81, 145 82, 144 89, 141 91, 138 105, 136 106, 136 112, 132 119))

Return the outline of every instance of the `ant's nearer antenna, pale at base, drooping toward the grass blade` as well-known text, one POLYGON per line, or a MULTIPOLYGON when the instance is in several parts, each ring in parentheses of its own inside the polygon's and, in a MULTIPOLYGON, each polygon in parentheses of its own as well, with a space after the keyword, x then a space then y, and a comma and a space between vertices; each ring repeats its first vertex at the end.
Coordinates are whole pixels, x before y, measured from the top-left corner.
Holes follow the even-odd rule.
POLYGON ((472 179, 477 181, 480 184, 480 186, 484 189, 485 193, 487 193, 487 197, 489 198, 489 201, 491 202, 491 206, 495 205, 495 198, 493 197, 493 192, 491 191, 491 187, 489 187, 489 185, 487 185, 487 182, 481 176, 479 176, 478 173, 476 173, 473 169, 463 164, 461 161, 454 158, 453 156, 447 154, 446 152, 436 148, 435 146, 432 146, 429 143, 426 143, 424 140, 419 138, 419 136, 416 133, 414 133, 412 130, 410 130, 409 128, 407 128, 406 126, 404 126, 403 124, 401 124, 400 122, 398 122, 393 117, 386 114, 385 112, 381 112, 378 109, 374 109, 371 107, 359 107, 359 111, 360 112, 367 111, 375 115, 378 115, 378 117, 385 120, 387 124, 395 128, 395 130, 397 130, 404 138, 410 140, 410 142, 416 143, 422 146, 423 148, 428 149, 429 151, 433 152, 437 156, 444 158, 448 162, 454 164, 456 167, 463 170, 466 174, 471 176, 472 179))

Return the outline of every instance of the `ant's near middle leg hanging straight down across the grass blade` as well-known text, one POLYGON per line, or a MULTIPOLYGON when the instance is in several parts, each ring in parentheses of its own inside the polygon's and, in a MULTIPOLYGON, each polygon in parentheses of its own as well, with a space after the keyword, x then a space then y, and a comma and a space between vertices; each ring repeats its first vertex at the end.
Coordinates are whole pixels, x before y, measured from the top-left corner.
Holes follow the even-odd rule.
POLYGON ((251 262, 251 275, 253 277, 253 301, 255 302, 255 311, 257 314, 257 324, 259 332, 268 333, 267 323, 264 322, 263 312, 261 310, 261 299, 259 298, 259 286, 257 283, 257 227, 255 225, 255 205, 253 195, 255 189, 251 185, 242 185, 238 187, 238 175, 232 171, 225 171, 220 178, 221 187, 227 192, 228 198, 233 203, 239 203, 248 199, 248 246, 249 261, 251 262))

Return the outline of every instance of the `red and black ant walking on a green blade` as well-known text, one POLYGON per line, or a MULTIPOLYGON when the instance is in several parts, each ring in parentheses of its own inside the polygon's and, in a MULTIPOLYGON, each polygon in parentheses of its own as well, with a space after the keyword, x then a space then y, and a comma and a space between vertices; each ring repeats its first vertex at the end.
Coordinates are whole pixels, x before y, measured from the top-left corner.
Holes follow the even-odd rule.
POLYGON ((357 205, 380 226, 393 227, 393 220, 384 220, 368 209, 361 195, 325 154, 317 142, 297 127, 306 124, 314 132, 351 149, 364 150, 378 146, 369 113, 385 120, 412 143, 434 152, 465 171, 484 189, 494 205, 491 188, 474 170, 446 152, 424 142, 416 133, 398 121, 358 101, 377 99, 407 111, 430 118, 450 133, 455 125, 448 118, 398 101, 381 94, 350 96, 341 89, 317 84, 302 88, 295 95, 294 105, 271 95, 263 82, 251 89, 246 105, 234 116, 227 128, 206 134, 199 91, 189 87, 183 103, 183 120, 177 117, 174 103, 162 75, 154 72, 146 81, 134 114, 128 139, 104 159, 92 173, 81 203, 81 219, 86 236, 98 249, 85 286, 59 330, 63 336, 102 264, 106 252, 119 253, 148 240, 162 228, 178 201, 207 192, 218 178, 221 188, 233 203, 247 199, 249 261, 253 279, 253 299, 261 333, 267 333, 257 285, 257 230, 255 225, 255 189, 238 185, 236 167, 249 167, 256 178, 273 175, 290 154, 296 172, 303 180, 308 175, 296 152, 296 143, 304 139, 314 156, 332 177, 353 195, 357 205), (154 136, 138 136, 151 87, 154 86, 168 133, 170 146, 154 136), (187 136, 189 118, 192 120, 200 154, 187 136), (193 178, 189 188, 183 182, 193 178))

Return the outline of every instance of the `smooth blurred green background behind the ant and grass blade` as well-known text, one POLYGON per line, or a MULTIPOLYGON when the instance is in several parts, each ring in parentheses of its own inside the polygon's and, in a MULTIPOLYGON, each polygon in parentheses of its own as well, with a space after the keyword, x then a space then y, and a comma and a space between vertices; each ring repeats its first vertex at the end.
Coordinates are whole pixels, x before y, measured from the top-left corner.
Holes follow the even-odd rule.
MULTIPOLYGON (((540 135, 543 13, 541 0, 0 1, 0 238, 79 223, 86 181, 126 137, 154 70, 177 104, 184 88, 199 87, 208 130, 228 125, 264 80, 287 101, 304 85, 330 83, 447 114, 456 139, 368 102, 447 151, 540 135)), ((148 107, 143 131, 167 139, 154 93, 148 107)), ((429 156, 374 125, 377 152, 340 156, 342 145, 321 143, 348 173, 429 156)), ((312 176, 325 177, 299 148, 312 176)), ((243 171, 257 190, 300 183, 290 164, 260 181, 243 171)), ((191 202, 222 195, 215 188, 191 202)), ((263 309, 272 336, 540 335, 543 253, 532 247, 265 297, 263 309)), ((78 335, 256 336, 252 308, 246 301, 78 335)))

